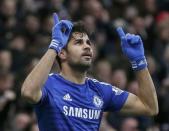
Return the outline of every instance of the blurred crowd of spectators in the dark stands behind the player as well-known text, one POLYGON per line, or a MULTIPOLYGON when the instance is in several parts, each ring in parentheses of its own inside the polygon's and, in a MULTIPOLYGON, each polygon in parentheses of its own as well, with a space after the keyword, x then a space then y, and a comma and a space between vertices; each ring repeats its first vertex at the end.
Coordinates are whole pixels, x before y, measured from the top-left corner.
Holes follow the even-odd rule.
MULTIPOLYGON (((169 131, 168 0, 1 0, 0 131, 38 131, 33 106, 20 97, 20 89, 48 49, 53 12, 87 25, 96 49, 89 75, 134 94, 138 83, 115 29, 122 26, 143 39, 159 114, 150 118, 105 113, 100 131, 169 131)), ((52 71, 58 70, 56 62, 52 71)))

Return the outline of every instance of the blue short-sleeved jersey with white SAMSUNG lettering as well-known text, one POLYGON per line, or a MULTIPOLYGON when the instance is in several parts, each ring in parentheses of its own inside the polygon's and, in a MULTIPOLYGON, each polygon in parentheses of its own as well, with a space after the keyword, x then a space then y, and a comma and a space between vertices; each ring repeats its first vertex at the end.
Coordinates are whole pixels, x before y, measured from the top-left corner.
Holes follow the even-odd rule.
POLYGON ((35 105, 40 131, 98 131, 104 111, 119 111, 128 97, 110 84, 86 78, 75 84, 49 75, 35 105))

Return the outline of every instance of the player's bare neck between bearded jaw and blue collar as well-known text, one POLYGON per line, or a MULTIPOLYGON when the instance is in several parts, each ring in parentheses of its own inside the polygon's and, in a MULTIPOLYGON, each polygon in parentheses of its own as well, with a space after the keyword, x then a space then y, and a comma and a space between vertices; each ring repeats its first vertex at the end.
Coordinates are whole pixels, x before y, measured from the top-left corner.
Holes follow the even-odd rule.
POLYGON ((85 83, 86 71, 82 72, 72 69, 70 66, 62 66, 60 75, 73 83, 83 84, 85 83))

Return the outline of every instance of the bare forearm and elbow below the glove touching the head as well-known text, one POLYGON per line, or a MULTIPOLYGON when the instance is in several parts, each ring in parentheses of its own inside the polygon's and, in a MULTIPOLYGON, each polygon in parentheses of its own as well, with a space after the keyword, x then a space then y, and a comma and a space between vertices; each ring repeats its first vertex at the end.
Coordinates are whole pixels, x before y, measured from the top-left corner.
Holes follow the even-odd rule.
POLYGON ((29 102, 37 103, 40 100, 42 96, 42 85, 48 77, 56 56, 57 54, 55 50, 48 49, 39 63, 25 79, 22 85, 21 95, 29 102))

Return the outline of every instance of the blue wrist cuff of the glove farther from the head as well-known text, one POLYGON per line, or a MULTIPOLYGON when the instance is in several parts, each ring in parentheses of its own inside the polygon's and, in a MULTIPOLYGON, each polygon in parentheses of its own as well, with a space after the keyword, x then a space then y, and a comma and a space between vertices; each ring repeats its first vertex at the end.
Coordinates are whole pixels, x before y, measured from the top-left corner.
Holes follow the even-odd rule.
POLYGON ((147 67, 147 60, 145 57, 131 61, 131 65, 134 71, 139 71, 147 67))

